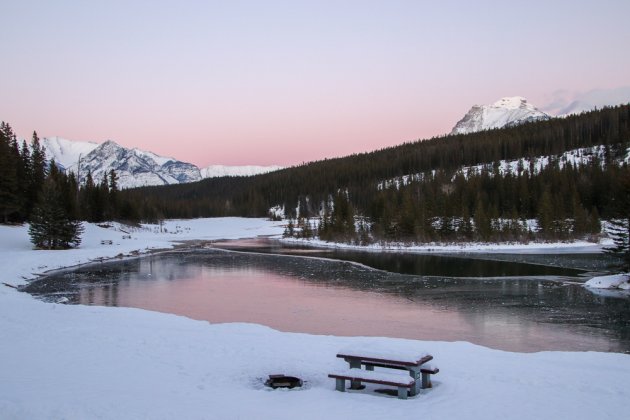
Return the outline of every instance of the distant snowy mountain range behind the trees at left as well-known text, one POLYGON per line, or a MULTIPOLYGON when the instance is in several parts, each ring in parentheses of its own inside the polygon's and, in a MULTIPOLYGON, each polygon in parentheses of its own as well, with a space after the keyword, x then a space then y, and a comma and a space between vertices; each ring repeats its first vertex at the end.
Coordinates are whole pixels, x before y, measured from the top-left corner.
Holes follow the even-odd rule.
POLYGON ((114 141, 104 143, 71 141, 61 137, 41 140, 46 157, 54 159, 66 171, 79 174, 85 181, 88 172, 95 182, 112 169, 120 188, 183 184, 220 176, 251 176, 282 169, 280 166, 211 165, 198 168, 192 163, 156 155, 140 149, 128 149, 114 141))

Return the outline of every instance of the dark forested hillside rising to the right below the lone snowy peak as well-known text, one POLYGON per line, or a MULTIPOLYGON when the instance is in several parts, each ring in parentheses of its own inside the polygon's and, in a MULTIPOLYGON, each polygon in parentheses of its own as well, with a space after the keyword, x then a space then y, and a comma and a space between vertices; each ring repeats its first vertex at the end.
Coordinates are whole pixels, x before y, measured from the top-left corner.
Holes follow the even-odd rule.
MULTIPOLYGON (((368 217, 373 233, 387 238, 490 238, 509 230, 499 225, 500 219, 510 225, 505 220, 532 218, 539 219, 546 236, 562 236, 573 231, 561 223, 564 219, 577 220, 578 231, 590 232, 598 229, 600 217, 617 213, 614 198, 621 194, 620 180, 628 176, 623 160, 629 141, 630 106, 620 106, 405 143, 254 177, 129 190, 122 197, 137 203, 143 218, 266 216, 276 205, 296 217, 298 203, 301 216, 318 215, 325 210, 322 203, 341 192, 349 211, 368 217), (554 162, 564 152, 598 145, 604 153, 587 165, 561 167, 554 162), (539 156, 551 157, 550 163, 528 170, 539 156), (520 167, 508 173, 458 173, 462 167, 519 159, 520 167), (384 180, 408 174, 424 176, 396 188, 379 188, 384 180), (469 218, 474 228, 464 222, 469 218)), ((522 237, 523 228, 512 226, 512 233, 501 236, 522 237)))

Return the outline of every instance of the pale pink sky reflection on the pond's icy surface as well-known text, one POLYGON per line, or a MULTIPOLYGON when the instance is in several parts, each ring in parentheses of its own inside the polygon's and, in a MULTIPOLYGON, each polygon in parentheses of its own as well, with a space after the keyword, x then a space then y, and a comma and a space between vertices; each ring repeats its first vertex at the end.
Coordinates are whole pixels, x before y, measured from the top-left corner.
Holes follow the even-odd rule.
MULTIPOLYGON (((156 270, 157 271, 157 270, 156 270)), ((251 322, 281 331, 470 341, 510 351, 609 350, 603 338, 499 312, 460 311, 380 292, 311 283, 260 269, 191 267, 142 282, 83 290, 80 303, 129 306, 212 323, 251 322)))

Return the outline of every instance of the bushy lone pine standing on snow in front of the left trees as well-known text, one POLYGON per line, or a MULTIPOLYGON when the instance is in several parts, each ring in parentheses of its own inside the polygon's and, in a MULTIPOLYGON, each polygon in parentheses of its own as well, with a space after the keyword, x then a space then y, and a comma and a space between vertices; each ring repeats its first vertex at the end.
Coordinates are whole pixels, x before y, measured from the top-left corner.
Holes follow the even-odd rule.
POLYGON ((56 181, 46 178, 31 216, 31 242, 38 249, 66 249, 79 246, 82 232, 81 223, 68 217, 56 181))

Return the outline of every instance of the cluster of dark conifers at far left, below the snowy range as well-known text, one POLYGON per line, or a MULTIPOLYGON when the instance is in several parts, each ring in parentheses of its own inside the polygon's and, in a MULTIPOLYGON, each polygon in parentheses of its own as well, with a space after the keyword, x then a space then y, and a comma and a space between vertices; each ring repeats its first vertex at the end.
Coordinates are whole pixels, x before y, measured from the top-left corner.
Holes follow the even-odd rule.
POLYGON ((30 222, 36 247, 77 246, 82 233, 79 221, 102 222, 133 214, 118 194, 114 171, 98 182, 88 174, 80 185, 74 173, 46 160, 36 132, 30 144, 20 144, 11 126, 0 124, 0 221, 30 222))

